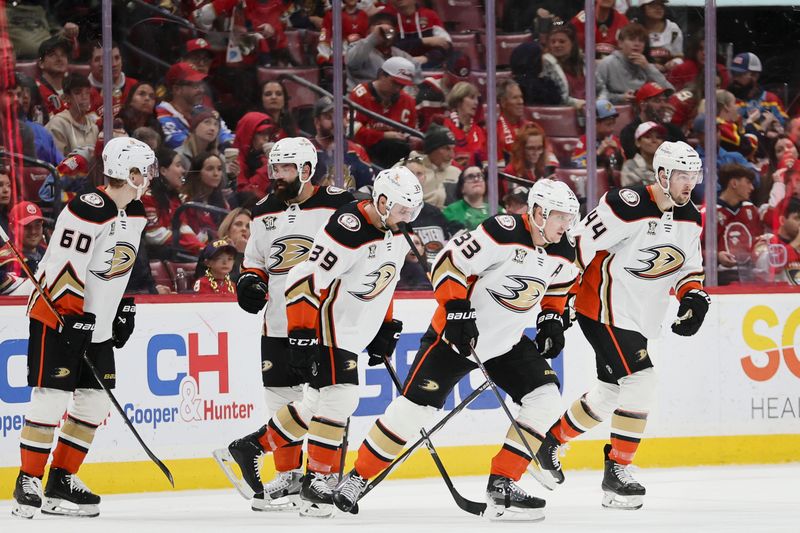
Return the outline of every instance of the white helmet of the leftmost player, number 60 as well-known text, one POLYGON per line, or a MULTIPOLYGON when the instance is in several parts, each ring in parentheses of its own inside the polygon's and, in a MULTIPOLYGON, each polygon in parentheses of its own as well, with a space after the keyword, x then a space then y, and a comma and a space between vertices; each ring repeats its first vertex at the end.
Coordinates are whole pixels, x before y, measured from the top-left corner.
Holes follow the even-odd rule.
POLYGON ((153 149, 131 137, 115 137, 103 147, 103 174, 110 179, 125 180, 136 189, 136 199, 142 197, 147 186, 158 176, 158 162, 153 149), (144 180, 135 185, 131 171, 138 170, 144 180))

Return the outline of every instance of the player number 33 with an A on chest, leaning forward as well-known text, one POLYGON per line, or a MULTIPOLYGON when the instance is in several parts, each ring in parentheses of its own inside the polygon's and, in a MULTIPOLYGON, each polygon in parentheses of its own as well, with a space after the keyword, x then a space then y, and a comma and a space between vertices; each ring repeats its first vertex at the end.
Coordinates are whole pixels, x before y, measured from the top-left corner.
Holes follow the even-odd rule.
MULTIPOLYGON (((471 347, 492 380, 521 406, 517 422, 535 453, 561 412, 558 377, 547 359, 564 347, 561 315, 578 275, 567 233, 578 200, 562 182, 537 181, 526 215, 497 215, 451 240, 437 256, 432 282, 439 302, 422 337, 403 394, 386 409, 358 451, 355 468, 334 493, 349 511, 370 478, 441 409, 452 388, 477 368, 471 347), (534 323, 537 335, 524 335, 534 323), (480 333, 480 336, 478 335, 480 333)), ((545 502, 515 482, 531 455, 514 427, 492 459, 487 515, 497 520, 540 520, 545 502)))

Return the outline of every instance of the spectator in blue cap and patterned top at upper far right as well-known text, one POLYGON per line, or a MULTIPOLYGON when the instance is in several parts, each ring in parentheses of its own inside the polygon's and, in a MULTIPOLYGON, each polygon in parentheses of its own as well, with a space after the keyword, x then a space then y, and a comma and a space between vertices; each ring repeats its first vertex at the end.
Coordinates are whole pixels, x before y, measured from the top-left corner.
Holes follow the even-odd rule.
POLYGON ((739 112, 765 134, 783 133, 789 116, 775 93, 759 84, 761 60, 752 52, 737 54, 731 62, 731 83, 728 90, 739 101, 739 112))

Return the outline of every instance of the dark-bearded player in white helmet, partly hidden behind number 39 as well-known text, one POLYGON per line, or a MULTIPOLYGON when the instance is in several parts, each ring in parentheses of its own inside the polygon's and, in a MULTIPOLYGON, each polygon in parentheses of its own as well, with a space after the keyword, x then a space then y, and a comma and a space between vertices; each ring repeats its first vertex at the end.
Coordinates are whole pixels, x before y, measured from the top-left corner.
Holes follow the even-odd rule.
MULTIPOLYGON (((261 337, 261 378, 267 404, 267 419, 278 409, 303 397, 308 372, 289 365, 284 292, 289 271, 305 261, 314 236, 339 207, 353 201, 353 195, 336 187, 310 183, 317 165, 317 151, 304 137, 279 140, 269 154, 273 191, 256 204, 250 223, 250 239, 244 252, 242 275, 236 284, 239 306, 259 313, 266 305, 261 337)), ((316 394, 316 392, 313 392, 316 394)), ((277 475, 262 485, 259 460, 265 449, 266 425, 230 443, 227 453, 239 465, 240 492, 252 491, 256 511, 289 510, 296 506, 302 476, 303 441, 273 453, 277 475), (261 444, 259 440, 264 440, 261 444)), ((215 457, 229 478, 225 451, 215 457)), ((235 479, 235 476, 234 478, 235 479)))

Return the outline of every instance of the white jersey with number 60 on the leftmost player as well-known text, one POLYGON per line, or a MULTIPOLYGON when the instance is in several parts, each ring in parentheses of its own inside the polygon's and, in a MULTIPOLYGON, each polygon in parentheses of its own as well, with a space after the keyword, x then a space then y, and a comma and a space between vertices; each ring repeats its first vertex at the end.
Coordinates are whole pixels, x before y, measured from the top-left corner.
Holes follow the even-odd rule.
MULTIPOLYGON (((146 222, 140 201, 117 209, 103 188, 77 196, 58 215, 36 279, 59 313, 95 314, 92 342, 111 338, 146 222)), ((35 291, 28 300, 28 316, 53 329, 58 324, 35 291)))

